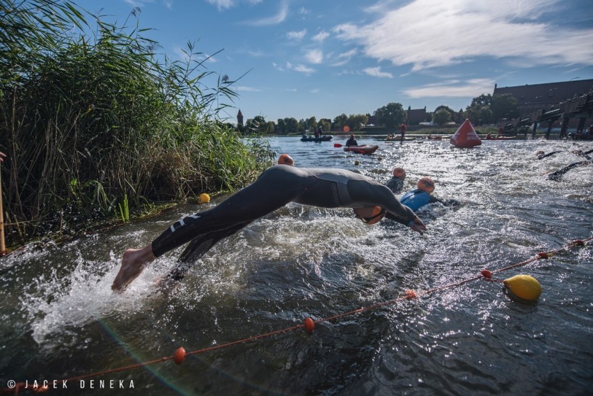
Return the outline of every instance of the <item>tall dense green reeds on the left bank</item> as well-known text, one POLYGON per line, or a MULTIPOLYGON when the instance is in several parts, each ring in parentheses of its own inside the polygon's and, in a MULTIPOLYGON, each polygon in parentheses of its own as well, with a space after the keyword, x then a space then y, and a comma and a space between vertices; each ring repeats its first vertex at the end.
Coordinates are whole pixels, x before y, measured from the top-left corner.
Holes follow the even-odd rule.
POLYGON ((220 120, 235 81, 209 72, 193 44, 171 61, 150 29, 70 1, 1 0, 0 15, 8 249, 233 191, 272 163, 267 141, 220 120))

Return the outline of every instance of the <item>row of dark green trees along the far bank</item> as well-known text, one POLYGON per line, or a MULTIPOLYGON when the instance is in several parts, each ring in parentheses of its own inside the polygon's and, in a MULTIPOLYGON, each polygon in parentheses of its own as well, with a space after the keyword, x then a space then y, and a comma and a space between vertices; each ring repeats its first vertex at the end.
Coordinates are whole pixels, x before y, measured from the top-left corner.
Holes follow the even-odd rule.
MULTIPOLYGON (((408 108, 410 110, 410 108, 408 108)), ((418 122, 434 122, 443 126, 448 122, 457 124, 468 118, 474 125, 489 125, 503 119, 519 116, 518 102, 509 93, 497 95, 480 95, 474 97, 465 110, 454 111, 449 106, 441 105, 434 111, 427 112, 426 118, 418 122)), ((333 120, 315 116, 297 120, 296 118, 278 118, 276 122, 267 121, 263 116, 248 119, 245 125, 237 125, 242 134, 307 134, 313 129, 322 127, 326 132, 342 131, 348 127, 350 131, 358 132, 365 127, 369 120, 374 120, 374 125, 385 127, 388 130, 396 129, 403 122, 408 122, 407 112, 401 103, 389 103, 374 111, 374 113, 351 114, 345 113, 336 116, 333 120)))

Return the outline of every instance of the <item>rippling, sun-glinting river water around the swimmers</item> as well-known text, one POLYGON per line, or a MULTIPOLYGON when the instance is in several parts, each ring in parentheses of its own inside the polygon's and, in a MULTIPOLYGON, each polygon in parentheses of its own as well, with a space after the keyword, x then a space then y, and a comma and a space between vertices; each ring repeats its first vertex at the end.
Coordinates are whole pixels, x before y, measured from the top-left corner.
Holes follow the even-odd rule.
MULTIPOLYGON (((151 264, 124 294, 110 286, 122 251, 148 244, 203 207, 61 246, 0 259, 0 388, 53 381, 242 340, 501 269, 593 235, 592 142, 448 141, 378 144, 370 156, 333 143, 273 138, 296 166, 337 167, 384 182, 406 169, 404 191, 430 176, 435 195, 463 205, 420 209, 420 236, 397 223, 365 225, 349 209, 290 204, 212 248, 171 295, 155 293, 180 251, 151 264), (560 151, 535 159, 538 150, 560 151), (358 160, 359 164, 355 165, 358 160)), ((208 205, 216 205, 223 196, 208 205)), ((591 244, 496 274, 529 274, 536 303, 500 283, 458 287, 172 361, 60 383, 50 395, 585 395, 593 386, 591 244), (103 382, 100 382, 103 381, 103 382), (112 382, 110 382, 112 381, 112 382), (122 382, 120 382, 122 381, 122 382), (123 386, 121 389, 120 386, 123 386), (132 386, 134 388, 132 388, 132 386)), ((53 386, 53 384, 51 384, 53 386)))

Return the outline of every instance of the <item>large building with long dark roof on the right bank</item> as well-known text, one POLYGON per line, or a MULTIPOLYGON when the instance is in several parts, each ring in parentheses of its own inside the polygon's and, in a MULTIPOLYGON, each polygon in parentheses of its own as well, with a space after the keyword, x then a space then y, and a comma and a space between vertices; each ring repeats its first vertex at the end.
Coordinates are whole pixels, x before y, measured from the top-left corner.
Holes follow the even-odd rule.
POLYGON ((523 118, 535 111, 549 109, 560 102, 585 95, 590 90, 593 90, 593 79, 502 88, 498 88, 498 84, 495 84, 493 95, 503 93, 513 95, 519 105, 519 117, 523 118))

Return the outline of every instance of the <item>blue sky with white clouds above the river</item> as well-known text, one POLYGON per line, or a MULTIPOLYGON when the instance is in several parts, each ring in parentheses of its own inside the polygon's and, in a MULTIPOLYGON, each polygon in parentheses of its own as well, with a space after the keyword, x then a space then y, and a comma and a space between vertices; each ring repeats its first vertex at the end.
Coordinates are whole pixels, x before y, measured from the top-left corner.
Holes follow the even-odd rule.
POLYGON ((235 81, 220 114, 233 123, 239 110, 274 122, 372 114, 391 102, 459 111, 495 84, 593 79, 591 0, 74 3, 151 29, 142 34, 171 59, 193 42, 212 77, 235 81))

